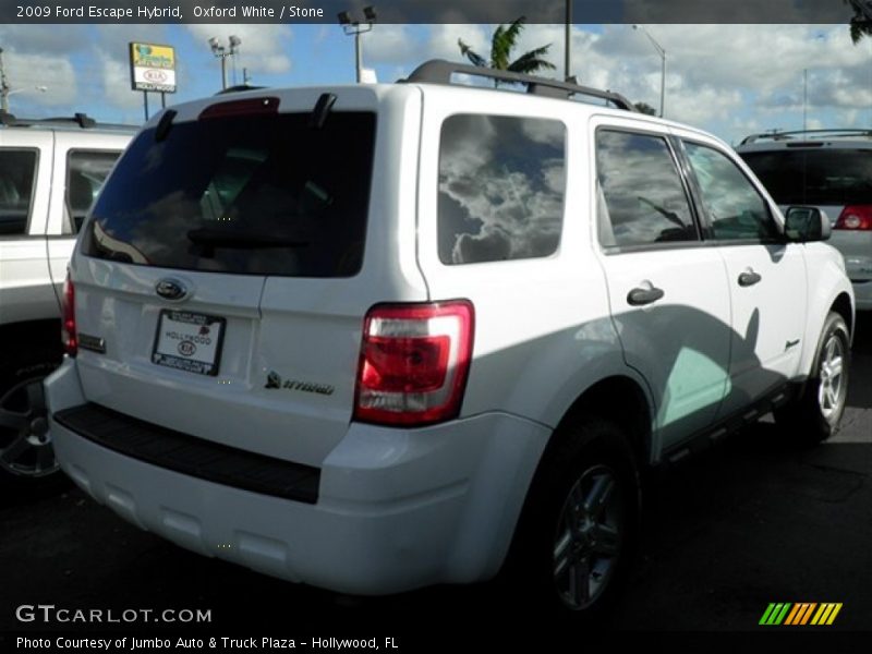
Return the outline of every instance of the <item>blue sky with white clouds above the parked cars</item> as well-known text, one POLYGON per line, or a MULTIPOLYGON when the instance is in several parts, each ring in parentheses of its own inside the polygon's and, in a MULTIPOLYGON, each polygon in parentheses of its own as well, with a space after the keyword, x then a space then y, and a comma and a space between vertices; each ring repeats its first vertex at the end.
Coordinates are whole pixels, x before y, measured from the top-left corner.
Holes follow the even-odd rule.
MULTIPOLYGON (((393 82, 432 58, 460 61, 458 38, 489 52, 495 25, 376 24, 364 34, 364 65, 393 82)), ((847 25, 653 24, 666 50, 666 117, 737 144, 750 133, 806 126, 872 129, 872 38, 853 45, 847 25), (803 71, 807 71, 803 74, 803 71)), ((0 47, 12 113, 45 118, 84 111, 107 122, 143 121, 143 94, 131 90, 128 43, 175 48, 179 90, 172 105, 220 89, 220 62, 207 39, 242 39, 230 82, 303 86, 354 82, 354 39, 335 24, 11 25, 0 47), (40 92, 36 87, 45 86, 40 92)), ((528 25, 517 52, 550 44, 562 75, 564 26, 528 25)), ((572 74, 582 84, 659 106, 661 57, 631 25, 574 25, 572 74)), ((149 95, 152 113, 159 107, 149 95)))

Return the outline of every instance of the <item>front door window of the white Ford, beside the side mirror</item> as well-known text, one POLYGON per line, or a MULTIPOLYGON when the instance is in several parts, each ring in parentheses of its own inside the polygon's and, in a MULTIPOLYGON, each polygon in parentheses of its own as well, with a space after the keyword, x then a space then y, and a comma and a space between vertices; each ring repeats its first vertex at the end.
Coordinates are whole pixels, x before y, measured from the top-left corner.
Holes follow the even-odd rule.
POLYGON ((767 241, 778 235, 768 205, 736 164, 714 148, 685 143, 716 240, 767 241))

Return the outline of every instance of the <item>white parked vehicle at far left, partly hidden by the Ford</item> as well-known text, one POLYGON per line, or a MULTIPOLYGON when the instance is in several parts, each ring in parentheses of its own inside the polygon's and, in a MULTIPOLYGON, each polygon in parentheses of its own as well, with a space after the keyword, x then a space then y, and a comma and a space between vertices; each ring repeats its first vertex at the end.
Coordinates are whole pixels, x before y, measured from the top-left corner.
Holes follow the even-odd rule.
POLYGON ((0 486, 66 479, 43 398, 43 379, 63 355, 60 290, 82 220, 134 133, 82 113, 0 113, 0 486))

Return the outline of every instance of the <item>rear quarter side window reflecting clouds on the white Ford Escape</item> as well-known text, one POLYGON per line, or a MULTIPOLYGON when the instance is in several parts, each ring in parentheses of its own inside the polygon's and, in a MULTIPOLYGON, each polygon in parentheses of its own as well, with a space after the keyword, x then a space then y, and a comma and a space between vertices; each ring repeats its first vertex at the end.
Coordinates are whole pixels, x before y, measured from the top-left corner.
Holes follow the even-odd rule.
POLYGON ((542 257, 560 243, 566 128, 556 120, 457 114, 439 146, 444 264, 542 257))

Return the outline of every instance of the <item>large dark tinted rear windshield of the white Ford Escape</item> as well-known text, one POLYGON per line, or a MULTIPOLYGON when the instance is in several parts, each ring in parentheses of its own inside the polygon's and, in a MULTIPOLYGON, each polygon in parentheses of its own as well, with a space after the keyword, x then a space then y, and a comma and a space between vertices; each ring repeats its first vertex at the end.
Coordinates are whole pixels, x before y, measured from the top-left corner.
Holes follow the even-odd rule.
POLYGON ((372 112, 213 118, 140 134, 93 209, 87 255, 288 277, 348 277, 363 261, 372 112))

